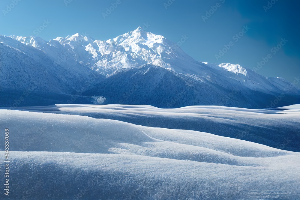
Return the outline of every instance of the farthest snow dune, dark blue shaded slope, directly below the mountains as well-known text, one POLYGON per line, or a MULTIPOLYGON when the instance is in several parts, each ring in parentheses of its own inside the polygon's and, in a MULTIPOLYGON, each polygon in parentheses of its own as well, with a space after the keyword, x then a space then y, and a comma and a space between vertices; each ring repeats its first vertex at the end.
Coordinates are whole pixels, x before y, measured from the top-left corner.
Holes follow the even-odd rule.
POLYGON ((147 127, 195 130, 300 152, 300 112, 297 109, 255 110, 223 106, 160 109, 148 105, 79 104, 19 109, 85 115, 147 127))

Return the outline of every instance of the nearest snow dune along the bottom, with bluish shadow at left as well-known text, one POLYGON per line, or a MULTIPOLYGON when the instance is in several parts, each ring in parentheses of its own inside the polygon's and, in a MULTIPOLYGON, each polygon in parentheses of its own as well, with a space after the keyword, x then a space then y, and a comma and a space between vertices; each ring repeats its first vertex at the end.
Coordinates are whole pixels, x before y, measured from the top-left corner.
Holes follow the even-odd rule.
POLYGON ((299 156, 276 158, 260 167, 130 154, 13 152, 11 157, 16 199, 299 197, 299 156))

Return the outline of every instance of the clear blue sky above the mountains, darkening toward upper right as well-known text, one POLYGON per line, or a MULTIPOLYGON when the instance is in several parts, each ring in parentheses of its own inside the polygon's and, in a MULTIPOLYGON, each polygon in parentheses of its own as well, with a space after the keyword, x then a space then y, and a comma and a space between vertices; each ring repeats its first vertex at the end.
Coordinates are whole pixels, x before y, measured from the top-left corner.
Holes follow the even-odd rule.
POLYGON ((34 30, 48 20, 49 25, 38 35, 45 40, 77 32, 107 40, 148 23, 147 31, 164 35, 173 42, 186 35, 188 39, 181 48, 198 61, 239 63, 253 69, 262 57, 271 54, 257 73, 267 77, 281 76, 289 81, 300 76, 298 0, 272 0, 274 4, 269 7, 271 0, 169 0, 173 2, 170 6, 167 6, 168 0, 119 0, 118 6, 104 19, 102 13, 117 1, 1 0, 0 34, 35 35, 34 30), (16 5, 4 12, 14 1, 16 5), (67 6, 66 2, 69 2, 67 6), (211 6, 215 11, 210 10, 211 6), (203 20, 206 11, 212 14, 203 20), (250 29, 244 30, 246 33, 238 40, 233 39, 243 26, 250 29), (280 44, 281 38, 288 42, 274 54, 272 48, 280 44), (215 55, 230 41, 233 46, 217 60, 215 55))

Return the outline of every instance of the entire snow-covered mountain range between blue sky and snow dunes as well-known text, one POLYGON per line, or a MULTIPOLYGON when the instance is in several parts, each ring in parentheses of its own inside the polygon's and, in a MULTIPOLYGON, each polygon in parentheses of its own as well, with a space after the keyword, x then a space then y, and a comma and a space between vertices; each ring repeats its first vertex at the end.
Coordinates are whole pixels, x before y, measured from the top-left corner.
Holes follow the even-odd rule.
POLYGON ((85 34, 0 35, 2 107, 57 103, 215 105, 252 109, 300 103, 300 89, 239 64, 196 61, 139 27, 106 41, 85 34))

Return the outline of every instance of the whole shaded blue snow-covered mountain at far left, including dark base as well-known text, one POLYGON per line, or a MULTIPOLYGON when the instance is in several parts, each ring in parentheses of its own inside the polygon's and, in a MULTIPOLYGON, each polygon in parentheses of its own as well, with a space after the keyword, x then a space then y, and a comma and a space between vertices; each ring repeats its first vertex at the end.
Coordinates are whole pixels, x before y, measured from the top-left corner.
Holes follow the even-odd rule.
MULTIPOLYGON (((47 47, 53 55, 58 55, 58 50, 46 42, 42 44, 40 38, 18 39, 28 46, 0 36, 0 106, 67 103, 72 98, 70 95, 80 94, 104 79, 76 61, 58 63, 54 56, 39 48, 47 47)), ((81 97, 73 102, 89 103, 81 97)))

